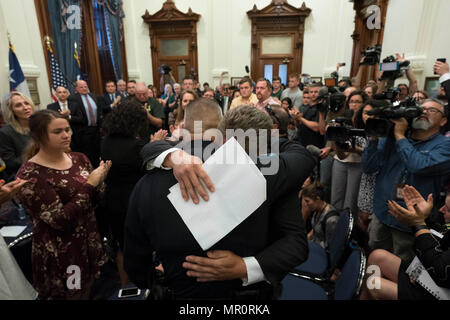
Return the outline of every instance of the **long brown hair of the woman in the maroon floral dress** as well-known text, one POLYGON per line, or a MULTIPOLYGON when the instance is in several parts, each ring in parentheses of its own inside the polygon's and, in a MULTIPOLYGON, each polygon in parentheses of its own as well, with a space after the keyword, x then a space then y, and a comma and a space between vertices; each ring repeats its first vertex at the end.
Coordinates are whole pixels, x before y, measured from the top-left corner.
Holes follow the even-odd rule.
POLYGON ((66 116, 54 110, 41 110, 31 115, 31 141, 23 153, 24 162, 33 158, 39 152, 41 145, 48 141, 48 126, 53 119, 65 119, 69 121, 66 116))

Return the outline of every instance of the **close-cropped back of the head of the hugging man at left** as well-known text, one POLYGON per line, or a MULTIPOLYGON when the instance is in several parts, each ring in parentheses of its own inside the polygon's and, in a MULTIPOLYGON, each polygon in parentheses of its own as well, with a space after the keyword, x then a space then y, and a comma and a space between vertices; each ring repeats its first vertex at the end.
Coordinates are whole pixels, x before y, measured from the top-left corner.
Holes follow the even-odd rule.
POLYGON ((192 101, 185 110, 184 128, 194 133, 194 122, 202 122, 202 132, 209 129, 217 129, 222 120, 222 109, 211 99, 200 98, 192 101))

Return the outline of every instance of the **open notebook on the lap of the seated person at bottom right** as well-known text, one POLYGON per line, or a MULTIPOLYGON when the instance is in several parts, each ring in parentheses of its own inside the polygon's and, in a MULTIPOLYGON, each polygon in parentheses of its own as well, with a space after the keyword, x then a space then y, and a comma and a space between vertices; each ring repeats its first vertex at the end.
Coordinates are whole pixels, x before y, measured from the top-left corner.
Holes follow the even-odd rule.
POLYGON ((431 278, 418 257, 413 259, 408 269, 406 269, 406 273, 436 299, 450 300, 450 289, 439 287, 431 278))

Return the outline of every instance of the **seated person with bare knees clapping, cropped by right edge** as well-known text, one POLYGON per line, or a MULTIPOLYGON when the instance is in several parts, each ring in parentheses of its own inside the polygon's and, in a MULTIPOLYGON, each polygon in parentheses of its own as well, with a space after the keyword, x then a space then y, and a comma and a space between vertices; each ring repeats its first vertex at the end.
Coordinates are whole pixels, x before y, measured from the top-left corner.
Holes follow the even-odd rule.
MULTIPOLYGON (((433 208, 433 196, 425 199, 411 186, 403 189, 403 198, 407 209, 394 201, 388 201, 389 212, 399 221, 408 224, 416 236, 415 251, 420 262, 424 265, 430 276, 438 286, 450 288, 449 236, 446 233, 443 239, 438 240, 426 226, 425 220, 433 208)), ((434 300, 418 283, 412 281, 406 274, 408 263, 385 250, 375 250, 369 256, 368 266, 379 266, 381 275, 379 279, 373 276, 366 281, 366 287, 361 299, 377 300, 434 300), (379 281, 375 281, 379 280, 379 281), (378 282, 379 286, 376 286, 378 282), (372 284, 372 285, 370 285, 372 284), (374 286, 375 285, 375 286, 374 286), (369 289, 370 287, 370 289, 369 289), (374 288, 375 287, 375 288, 374 288)))

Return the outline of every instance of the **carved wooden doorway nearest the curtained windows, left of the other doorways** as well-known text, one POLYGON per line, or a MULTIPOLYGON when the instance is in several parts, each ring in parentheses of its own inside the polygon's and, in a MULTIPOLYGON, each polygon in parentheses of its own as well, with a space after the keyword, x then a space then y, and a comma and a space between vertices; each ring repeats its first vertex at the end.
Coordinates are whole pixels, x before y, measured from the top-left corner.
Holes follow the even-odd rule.
POLYGON ((200 15, 190 8, 188 13, 182 13, 172 0, 167 0, 157 13, 151 15, 146 11, 142 18, 149 25, 153 83, 158 89, 161 78, 158 68, 163 64, 172 68, 178 83, 189 75, 198 80, 197 22, 200 15))

